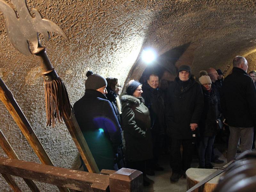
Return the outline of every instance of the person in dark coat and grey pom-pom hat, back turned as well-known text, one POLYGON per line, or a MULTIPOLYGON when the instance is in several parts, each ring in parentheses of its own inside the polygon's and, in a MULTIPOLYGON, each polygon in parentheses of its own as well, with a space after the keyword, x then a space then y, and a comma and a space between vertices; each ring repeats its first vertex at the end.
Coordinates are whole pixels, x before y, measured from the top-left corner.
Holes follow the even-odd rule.
POLYGON ((99 170, 118 170, 118 149, 122 144, 121 126, 105 96, 107 81, 90 71, 86 76, 88 78, 85 81, 84 96, 74 104, 77 123, 99 170))

